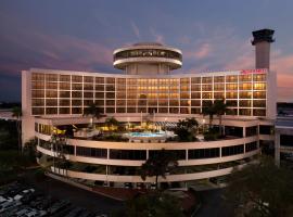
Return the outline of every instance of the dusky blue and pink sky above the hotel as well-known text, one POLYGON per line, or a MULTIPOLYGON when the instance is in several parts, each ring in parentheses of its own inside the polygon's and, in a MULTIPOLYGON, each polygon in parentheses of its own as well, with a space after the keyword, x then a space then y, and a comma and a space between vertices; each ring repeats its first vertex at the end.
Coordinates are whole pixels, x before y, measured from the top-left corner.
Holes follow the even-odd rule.
POLYGON ((178 48, 182 68, 254 68, 252 30, 275 29, 278 101, 293 102, 292 0, 1 0, 0 101, 21 101, 31 67, 119 73, 113 50, 139 41, 178 48))

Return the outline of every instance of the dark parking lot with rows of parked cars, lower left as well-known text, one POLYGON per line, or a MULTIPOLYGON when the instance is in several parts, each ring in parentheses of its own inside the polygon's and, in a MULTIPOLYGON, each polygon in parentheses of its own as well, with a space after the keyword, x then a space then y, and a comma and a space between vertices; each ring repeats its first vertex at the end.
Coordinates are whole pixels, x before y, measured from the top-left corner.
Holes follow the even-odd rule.
POLYGON ((53 179, 14 182, 0 189, 0 216, 109 216, 122 203, 53 179))

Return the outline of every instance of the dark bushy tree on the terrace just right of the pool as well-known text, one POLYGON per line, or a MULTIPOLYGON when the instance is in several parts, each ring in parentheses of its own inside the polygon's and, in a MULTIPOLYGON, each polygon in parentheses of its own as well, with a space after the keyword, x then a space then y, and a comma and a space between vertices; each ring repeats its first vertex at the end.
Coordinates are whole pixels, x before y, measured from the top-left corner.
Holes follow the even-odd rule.
POLYGON ((180 141, 192 141, 194 140, 194 133, 198 129, 199 123, 195 118, 180 119, 177 123, 175 133, 178 136, 180 141))

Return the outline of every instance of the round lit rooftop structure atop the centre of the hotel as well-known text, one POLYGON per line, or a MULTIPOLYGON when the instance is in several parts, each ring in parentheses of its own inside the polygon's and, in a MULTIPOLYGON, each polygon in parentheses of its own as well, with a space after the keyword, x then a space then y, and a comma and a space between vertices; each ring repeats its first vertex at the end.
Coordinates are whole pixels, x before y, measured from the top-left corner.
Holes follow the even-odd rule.
POLYGON ((168 74, 182 66, 179 49, 157 42, 139 42, 113 52, 115 68, 127 74, 168 74))

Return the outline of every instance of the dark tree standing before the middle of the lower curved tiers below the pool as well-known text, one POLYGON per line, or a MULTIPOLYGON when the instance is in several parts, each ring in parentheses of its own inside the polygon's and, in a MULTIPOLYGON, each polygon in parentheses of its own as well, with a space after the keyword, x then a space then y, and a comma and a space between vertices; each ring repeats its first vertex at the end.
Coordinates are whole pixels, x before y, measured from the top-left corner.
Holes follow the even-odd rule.
POLYGON ((174 152, 164 149, 151 155, 145 163, 141 165, 141 178, 155 176, 155 189, 157 189, 157 179, 162 176, 166 178, 166 173, 174 170, 178 166, 177 156, 174 152))

